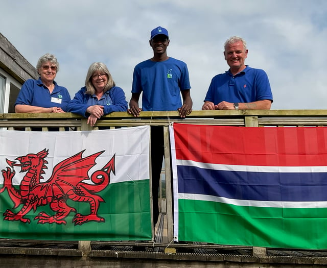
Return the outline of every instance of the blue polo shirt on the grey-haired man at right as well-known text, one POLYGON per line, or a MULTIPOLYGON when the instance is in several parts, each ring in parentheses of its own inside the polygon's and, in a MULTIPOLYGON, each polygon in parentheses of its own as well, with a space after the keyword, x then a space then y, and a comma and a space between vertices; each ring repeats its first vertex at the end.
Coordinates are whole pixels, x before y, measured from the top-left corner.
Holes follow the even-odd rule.
POLYGON ((215 76, 204 99, 214 104, 222 101, 250 103, 262 100, 273 101, 268 76, 264 70, 248 65, 235 76, 229 70, 215 76))

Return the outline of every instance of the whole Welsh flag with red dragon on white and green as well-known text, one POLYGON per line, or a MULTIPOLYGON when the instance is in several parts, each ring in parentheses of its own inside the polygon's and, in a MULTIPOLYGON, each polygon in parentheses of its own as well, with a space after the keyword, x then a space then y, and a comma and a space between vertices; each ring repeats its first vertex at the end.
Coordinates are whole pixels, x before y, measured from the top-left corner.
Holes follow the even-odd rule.
POLYGON ((0 237, 150 240, 149 135, 0 131, 0 237))

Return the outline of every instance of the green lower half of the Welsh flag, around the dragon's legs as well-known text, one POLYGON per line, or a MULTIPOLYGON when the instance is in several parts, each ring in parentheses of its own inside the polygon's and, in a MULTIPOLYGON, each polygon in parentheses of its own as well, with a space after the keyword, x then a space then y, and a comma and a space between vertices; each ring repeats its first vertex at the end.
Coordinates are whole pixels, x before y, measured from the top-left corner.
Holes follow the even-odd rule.
MULTIPOLYGON (((0 185, 2 187, 2 185, 0 185)), ((100 203, 98 215, 105 218, 105 222, 87 222, 82 225, 72 223, 74 212, 66 218, 66 225, 37 224, 34 217, 44 211, 53 215, 49 205, 39 206, 27 214, 31 223, 20 221, 6 221, 3 213, 12 209, 13 202, 7 191, 0 194, 0 236, 2 238, 46 239, 46 240, 150 240, 152 237, 150 214, 149 180, 112 183, 103 191, 96 193, 105 202, 100 203)), ((87 215, 90 206, 86 202, 67 201, 77 213, 87 215)))

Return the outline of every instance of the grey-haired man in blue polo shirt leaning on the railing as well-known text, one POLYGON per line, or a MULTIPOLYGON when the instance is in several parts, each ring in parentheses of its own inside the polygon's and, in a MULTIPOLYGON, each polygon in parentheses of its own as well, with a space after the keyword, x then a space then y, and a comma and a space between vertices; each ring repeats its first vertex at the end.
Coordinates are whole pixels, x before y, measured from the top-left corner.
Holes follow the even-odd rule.
POLYGON ((224 47, 230 68, 212 79, 202 110, 270 109, 273 99, 268 76, 262 69, 245 65, 246 42, 232 36, 224 47))

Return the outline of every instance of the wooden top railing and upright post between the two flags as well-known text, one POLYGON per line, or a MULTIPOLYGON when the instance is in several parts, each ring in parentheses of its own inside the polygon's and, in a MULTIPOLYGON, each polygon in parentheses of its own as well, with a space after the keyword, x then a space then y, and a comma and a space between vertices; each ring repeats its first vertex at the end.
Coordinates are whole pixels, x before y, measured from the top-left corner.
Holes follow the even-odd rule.
MULTIPOLYGON (((73 113, 30 113, 0 114, 0 128, 26 130, 34 127, 48 131, 57 127, 60 131, 91 131, 99 128, 122 128, 143 125, 159 125, 165 133, 165 174, 168 240, 173 239, 172 194, 170 178, 170 144, 168 126, 171 123, 243 126, 243 127, 311 127, 327 126, 327 110, 222 110, 193 111, 188 117, 181 118, 177 111, 141 112, 133 117, 127 112, 114 112, 103 116, 95 127, 87 125, 87 118, 73 113)), ((259 249, 260 250, 260 249, 259 249)))

